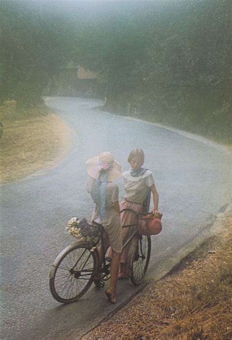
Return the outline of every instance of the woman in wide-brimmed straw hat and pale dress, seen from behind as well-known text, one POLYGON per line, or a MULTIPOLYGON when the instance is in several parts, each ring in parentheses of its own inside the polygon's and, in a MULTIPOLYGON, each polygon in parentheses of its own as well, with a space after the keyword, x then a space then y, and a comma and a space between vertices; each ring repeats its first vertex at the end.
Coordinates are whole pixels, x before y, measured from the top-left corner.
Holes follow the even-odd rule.
MULTIPOLYGON (((120 253, 122 250, 120 208, 118 204, 118 186, 113 183, 121 176, 121 166, 110 152, 102 152, 86 162, 89 178, 89 192, 93 198, 94 209, 92 220, 103 225, 108 243, 112 248, 112 263, 110 267, 110 287, 105 291, 109 302, 115 303, 116 282, 119 269, 120 253)), ((107 245, 106 241, 106 245, 107 245)), ((107 247, 106 247, 107 249, 107 247)), ((100 264, 103 259, 103 250, 98 248, 100 264)), ((94 283, 100 283, 100 276, 94 283)))

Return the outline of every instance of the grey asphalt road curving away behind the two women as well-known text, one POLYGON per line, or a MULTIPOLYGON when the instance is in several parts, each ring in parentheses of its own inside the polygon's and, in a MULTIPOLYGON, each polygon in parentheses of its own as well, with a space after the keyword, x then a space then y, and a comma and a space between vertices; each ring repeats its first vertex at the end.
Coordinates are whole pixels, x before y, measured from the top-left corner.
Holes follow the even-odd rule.
POLYGON ((67 220, 91 216, 89 157, 112 151, 127 170, 129 151, 141 147, 145 152, 163 213, 145 283, 231 200, 231 154, 224 147, 95 110, 102 104, 98 100, 50 97, 47 104, 75 131, 70 136, 74 147, 57 167, 0 187, 1 339, 78 339, 137 290, 129 280, 120 281, 116 306, 94 287, 70 305, 50 295, 51 263, 74 241, 64 230, 67 220))

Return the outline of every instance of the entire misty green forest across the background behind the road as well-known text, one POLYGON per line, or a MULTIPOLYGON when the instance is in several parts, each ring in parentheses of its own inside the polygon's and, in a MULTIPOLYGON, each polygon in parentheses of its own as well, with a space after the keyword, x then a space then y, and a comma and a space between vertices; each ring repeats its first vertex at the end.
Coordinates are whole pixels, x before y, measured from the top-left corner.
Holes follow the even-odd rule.
POLYGON ((42 105, 72 61, 105 109, 231 142, 231 1, 1 1, 0 100, 42 105))

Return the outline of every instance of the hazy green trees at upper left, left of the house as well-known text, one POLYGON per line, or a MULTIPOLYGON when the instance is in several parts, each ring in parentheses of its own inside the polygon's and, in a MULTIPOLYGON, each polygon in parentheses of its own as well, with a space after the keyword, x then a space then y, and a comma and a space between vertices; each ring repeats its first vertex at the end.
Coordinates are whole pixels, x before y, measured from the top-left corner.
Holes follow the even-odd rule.
POLYGON ((1 102, 42 103, 48 77, 70 58, 70 27, 61 14, 24 2, 1 1, 1 102))

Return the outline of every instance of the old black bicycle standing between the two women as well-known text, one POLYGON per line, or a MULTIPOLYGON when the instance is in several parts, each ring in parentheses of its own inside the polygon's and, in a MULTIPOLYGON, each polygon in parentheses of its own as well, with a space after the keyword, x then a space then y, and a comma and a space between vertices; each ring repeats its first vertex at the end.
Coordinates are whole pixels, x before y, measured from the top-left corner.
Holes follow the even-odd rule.
MULTIPOLYGON (((123 209, 120 211, 131 211, 136 214, 136 224, 125 225, 123 228, 137 227, 139 215, 147 215, 147 213, 138 213, 132 209, 123 209)), ((104 247, 104 228, 101 224, 93 221, 93 224, 100 228, 100 242, 104 247)), ((123 244, 122 249, 131 242, 133 237, 138 237, 138 245, 131 267, 130 279, 137 286, 141 283, 151 254, 151 238, 150 236, 139 235, 136 230, 130 238, 123 244)), ((104 281, 110 278, 110 265, 103 256, 103 264, 100 268, 102 287, 104 281)), ((49 273, 49 287, 52 296, 61 303, 71 303, 77 301, 91 287, 94 277, 99 270, 99 253, 97 247, 93 247, 90 243, 78 241, 71 243, 64 248, 56 257, 49 273)))

